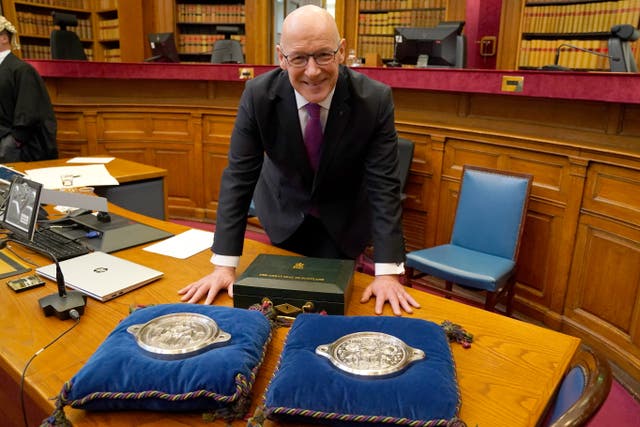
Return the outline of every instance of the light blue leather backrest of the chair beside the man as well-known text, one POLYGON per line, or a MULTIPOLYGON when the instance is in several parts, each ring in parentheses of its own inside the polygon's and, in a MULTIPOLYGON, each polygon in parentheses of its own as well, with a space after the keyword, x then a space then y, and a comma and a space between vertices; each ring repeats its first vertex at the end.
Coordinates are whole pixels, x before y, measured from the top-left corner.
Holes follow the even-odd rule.
POLYGON ((464 166, 451 243, 516 260, 533 177, 464 166))

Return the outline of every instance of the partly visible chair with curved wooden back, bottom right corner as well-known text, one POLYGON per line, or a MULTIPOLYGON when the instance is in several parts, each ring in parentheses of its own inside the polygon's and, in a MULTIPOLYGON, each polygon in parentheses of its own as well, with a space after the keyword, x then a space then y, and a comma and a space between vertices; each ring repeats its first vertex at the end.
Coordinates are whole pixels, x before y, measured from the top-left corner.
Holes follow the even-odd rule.
POLYGON ((610 390, 609 362, 595 350, 580 346, 542 425, 585 425, 602 406, 610 390))

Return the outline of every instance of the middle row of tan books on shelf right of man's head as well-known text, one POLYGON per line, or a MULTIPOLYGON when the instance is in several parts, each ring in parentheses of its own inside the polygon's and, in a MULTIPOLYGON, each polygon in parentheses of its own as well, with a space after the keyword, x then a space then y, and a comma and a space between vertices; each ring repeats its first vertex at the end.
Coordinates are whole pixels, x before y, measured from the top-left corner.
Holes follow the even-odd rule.
POLYGON ((443 20, 444 13, 440 10, 361 13, 358 17, 358 33, 393 34, 395 27, 435 27, 443 20))

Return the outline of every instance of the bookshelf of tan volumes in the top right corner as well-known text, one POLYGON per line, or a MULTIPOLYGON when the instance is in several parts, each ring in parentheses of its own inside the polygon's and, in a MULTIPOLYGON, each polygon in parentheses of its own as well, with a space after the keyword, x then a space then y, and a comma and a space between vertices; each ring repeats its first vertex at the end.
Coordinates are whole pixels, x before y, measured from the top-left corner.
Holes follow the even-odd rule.
MULTIPOLYGON (((529 0, 522 8, 519 69, 538 69, 555 62, 579 71, 608 71, 607 40, 616 24, 638 26, 640 0, 529 0), (571 46, 561 45, 572 45, 571 46)), ((636 60, 638 42, 632 43, 636 60)))

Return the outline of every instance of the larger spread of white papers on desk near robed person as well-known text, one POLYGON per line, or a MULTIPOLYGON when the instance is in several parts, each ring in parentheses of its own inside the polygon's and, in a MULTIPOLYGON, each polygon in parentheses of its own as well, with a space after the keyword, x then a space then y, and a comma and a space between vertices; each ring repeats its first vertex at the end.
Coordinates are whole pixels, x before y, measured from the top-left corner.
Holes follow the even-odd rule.
POLYGON ((78 166, 54 166, 50 168, 29 169, 27 178, 41 183, 44 188, 59 189, 68 187, 87 187, 98 185, 119 185, 103 164, 78 165, 78 166), (63 185, 63 179, 69 179, 67 185, 63 185))

